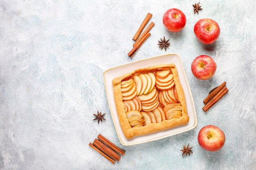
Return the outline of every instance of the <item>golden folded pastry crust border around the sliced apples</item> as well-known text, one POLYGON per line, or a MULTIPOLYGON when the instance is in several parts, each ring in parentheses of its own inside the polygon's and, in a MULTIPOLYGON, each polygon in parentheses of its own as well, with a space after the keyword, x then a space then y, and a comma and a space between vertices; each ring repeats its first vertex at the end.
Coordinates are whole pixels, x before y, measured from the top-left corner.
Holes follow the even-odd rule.
POLYGON ((175 126, 179 126, 189 122, 189 116, 187 115, 187 110, 186 110, 186 99, 185 99, 183 88, 180 84, 180 80, 179 80, 179 76, 178 76, 175 64, 159 64, 155 66, 140 68, 133 72, 126 73, 120 77, 113 79, 112 84, 114 88, 114 97, 115 97, 115 104, 117 108, 117 114, 119 117, 121 128, 126 138, 132 138, 138 135, 146 135, 146 134, 157 132, 160 130, 173 128, 175 126), (170 120, 164 120, 160 123, 148 124, 143 127, 131 128, 130 123, 126 117, 125 105, 123 103, 123 97, 121 92, 121 81, 123 79, 126 79, 127 77, 134 75, 135 73, 141 73, 141 72, 149 73, 150 71, 155 71, 159 68, 171 68, 171 71, 173 73, 173 79, 176 86, 177 95, 178 95, 180 104, 182 106, 182 117, 174 118, 170 120))

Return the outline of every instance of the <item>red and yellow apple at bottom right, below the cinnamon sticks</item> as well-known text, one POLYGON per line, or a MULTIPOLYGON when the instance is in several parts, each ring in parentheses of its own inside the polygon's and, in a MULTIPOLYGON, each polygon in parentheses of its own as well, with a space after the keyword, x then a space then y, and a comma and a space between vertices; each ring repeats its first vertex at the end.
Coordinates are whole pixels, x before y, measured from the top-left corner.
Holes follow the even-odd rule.
POLYGON ((217 151, 225 143, 225 134, 217 126, 204 126, 198 133, 199 145, 208 151, 217 151))

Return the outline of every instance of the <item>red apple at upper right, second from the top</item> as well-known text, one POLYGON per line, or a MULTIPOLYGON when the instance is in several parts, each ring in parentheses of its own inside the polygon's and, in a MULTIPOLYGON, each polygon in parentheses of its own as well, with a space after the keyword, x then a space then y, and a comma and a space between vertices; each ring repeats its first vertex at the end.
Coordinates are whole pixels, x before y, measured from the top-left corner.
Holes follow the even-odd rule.
POLYGON ((195 23, 194 33, 200 42, 211 44, 218 39, 220 26, 212 19, 201 19, 195 23))

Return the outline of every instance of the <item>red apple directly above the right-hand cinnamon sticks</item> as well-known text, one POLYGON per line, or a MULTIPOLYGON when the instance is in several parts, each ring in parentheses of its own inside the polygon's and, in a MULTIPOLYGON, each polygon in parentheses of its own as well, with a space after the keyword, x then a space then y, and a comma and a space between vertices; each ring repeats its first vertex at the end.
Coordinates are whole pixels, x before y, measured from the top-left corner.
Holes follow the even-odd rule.
POLYGON ((216 62, 208 55, 199 55, 191 64, 191 71, 198 79, 211 78, 216 68, 216 62))

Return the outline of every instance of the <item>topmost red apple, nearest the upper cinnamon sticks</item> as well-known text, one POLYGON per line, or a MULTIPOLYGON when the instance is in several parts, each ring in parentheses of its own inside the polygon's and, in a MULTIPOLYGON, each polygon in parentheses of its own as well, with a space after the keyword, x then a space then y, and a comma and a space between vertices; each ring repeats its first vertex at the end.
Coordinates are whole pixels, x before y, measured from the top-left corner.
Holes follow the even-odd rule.
POLYGON ((184 28, 186 16, 180 9, 171 8, 164 13, 163 23, 169 31, 178 32, 184 28))

